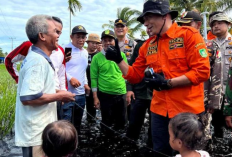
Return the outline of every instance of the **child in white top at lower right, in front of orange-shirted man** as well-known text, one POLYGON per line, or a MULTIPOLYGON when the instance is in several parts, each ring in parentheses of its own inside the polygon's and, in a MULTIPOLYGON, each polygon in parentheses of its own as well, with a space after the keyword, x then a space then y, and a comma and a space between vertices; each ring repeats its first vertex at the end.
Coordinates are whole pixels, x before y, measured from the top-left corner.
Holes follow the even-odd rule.
POLYGON ((169 143, 180 154, 176 157, 209 157, 209 153, 195 150, 204 136, 204 125, 192 113, 180 113, 169 122, 169 143))

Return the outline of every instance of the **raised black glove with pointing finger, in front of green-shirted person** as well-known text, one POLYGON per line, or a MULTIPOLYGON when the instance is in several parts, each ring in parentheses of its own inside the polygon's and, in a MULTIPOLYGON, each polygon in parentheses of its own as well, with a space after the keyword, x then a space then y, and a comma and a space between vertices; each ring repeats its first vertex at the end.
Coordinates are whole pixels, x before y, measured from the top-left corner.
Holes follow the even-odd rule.
POLYGON ((123 60, 120 48, 118 46, 118 39, 115 39, 115 46, 109 46, 107 48, 106 59, 114 61, 117 64, 119 64, 123 60))

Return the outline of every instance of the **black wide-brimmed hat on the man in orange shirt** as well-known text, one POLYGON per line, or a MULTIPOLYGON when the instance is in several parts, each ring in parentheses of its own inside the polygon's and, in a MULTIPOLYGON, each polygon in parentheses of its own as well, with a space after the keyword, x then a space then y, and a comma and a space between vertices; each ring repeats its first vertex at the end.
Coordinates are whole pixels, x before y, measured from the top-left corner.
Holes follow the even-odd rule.
POLYGON ((143 5, 143 13, 137 18, 137 21, 144 23, 143 17, 147 13, 166 15, 170 14, 172 19, 178 16, 178 11, 170 10, 168 0, 148 0, 143 5))

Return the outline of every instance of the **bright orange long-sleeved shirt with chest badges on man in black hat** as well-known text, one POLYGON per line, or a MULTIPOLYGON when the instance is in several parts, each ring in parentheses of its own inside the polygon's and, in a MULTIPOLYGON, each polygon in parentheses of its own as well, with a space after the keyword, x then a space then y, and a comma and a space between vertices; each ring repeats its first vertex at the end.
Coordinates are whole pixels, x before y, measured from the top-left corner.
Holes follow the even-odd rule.
POLYGON ((179 27, 174 23, 158 43, 156 37, 148 39, 140 48, 139 56, 124 76, 130 83, 138 83, 144 77, 147 66, 166 79, 185 75, 192 85, 169 90, 153 91, 151 111, 169 118, 181 112, 204 111, 203 82, 210 75, 206 45, 199 32, 191 27, 179 27))

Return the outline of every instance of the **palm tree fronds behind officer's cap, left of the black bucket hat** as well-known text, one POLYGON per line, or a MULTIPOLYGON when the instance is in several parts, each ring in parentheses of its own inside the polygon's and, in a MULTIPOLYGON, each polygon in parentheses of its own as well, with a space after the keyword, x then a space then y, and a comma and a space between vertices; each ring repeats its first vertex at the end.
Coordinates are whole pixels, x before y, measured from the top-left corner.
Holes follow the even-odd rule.
MULTIPOLYGON (((128 36, 129 38, 134 38, 134 34, 137 31, 142 31, 142 24, 137 21, 137 17, 141 14, 140 11, 136 9, 131 9, 129 7, 118 8, 117 18, 127 21, 128 36), (133 28, 132 28, 133 27, 133 28)), ((108 24, 103 24, 102 28, 114 29, 114 21, 109 20, 108 24)))

